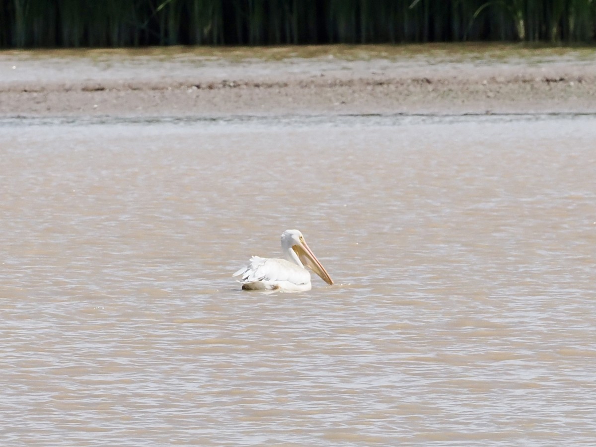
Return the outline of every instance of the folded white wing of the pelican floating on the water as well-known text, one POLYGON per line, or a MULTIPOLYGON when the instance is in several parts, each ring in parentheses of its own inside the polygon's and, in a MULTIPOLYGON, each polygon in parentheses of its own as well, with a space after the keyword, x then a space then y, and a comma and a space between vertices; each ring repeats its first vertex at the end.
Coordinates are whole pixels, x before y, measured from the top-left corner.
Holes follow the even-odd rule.
POLYGON ((284 283, 301 285, 311 282, 311 274, 306 269, 288 262, 285 259, 253 256, 249 265, 241 268, 232 276, 242 275, 241 283, 284 283))

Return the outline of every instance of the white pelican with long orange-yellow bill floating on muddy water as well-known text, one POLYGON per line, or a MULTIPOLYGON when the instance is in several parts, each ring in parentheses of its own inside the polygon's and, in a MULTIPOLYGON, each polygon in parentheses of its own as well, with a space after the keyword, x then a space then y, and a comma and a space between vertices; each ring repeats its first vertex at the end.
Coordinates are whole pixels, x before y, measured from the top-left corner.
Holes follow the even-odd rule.
POLYGON ((246 267, 232 276, 242 275, 240 283, 243 290, 300 292, 311 290, 311 274, 306 266, 325 283, 333 284, 333 280, 297 229, 288 229, 281 235, 281 251, 285 259, 253 256, 246 267))

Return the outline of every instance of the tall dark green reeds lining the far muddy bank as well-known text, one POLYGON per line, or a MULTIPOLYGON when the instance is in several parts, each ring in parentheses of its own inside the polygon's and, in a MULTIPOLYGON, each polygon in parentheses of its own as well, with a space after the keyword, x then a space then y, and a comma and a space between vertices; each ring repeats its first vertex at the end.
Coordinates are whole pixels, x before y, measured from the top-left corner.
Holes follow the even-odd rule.
POLYGON ((0 46, 594 42, 596 0, 0 0, 0 46))

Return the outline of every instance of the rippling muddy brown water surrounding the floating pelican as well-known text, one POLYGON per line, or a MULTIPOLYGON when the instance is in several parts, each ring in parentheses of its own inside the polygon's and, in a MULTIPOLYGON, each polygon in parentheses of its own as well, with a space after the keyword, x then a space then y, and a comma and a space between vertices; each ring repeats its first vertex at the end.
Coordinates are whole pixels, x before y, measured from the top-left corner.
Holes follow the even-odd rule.
POLYGON ((2 119, 3 445, 592 445, 594 116, 2 119), (231 274, 302 230, 336 284, 231 274))

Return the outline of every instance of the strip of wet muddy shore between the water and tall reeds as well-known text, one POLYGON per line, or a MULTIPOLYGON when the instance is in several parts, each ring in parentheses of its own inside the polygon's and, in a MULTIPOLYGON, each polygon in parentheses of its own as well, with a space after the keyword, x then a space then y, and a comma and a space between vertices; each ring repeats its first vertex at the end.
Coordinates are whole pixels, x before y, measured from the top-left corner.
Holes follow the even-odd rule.
POLYGON ((516 45, 0 52, 0 116, 596 113, 596 51, 516 45))

